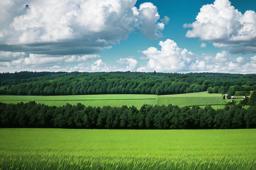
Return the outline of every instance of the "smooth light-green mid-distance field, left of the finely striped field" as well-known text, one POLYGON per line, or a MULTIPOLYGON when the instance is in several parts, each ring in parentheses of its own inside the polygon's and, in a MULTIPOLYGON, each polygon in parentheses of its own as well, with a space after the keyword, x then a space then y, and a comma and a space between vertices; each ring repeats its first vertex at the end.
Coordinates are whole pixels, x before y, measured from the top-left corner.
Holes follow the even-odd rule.
POLYGON ((135 106, 141 108, 144 104, 156 105, 157 95, 63 95, 63 96, 11 96, 0 95, 0 102, 20 103, 35 101, 36 103, 49 106, 63 106, 67 103, 76 105, 81 103, 85 106, 135 106))

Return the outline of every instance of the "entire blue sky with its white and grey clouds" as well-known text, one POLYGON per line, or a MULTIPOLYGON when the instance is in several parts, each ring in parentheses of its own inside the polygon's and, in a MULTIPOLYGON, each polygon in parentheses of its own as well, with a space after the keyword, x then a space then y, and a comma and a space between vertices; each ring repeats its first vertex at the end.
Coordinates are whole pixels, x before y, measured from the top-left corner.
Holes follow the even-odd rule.
POLYGON ((1 0, 0 73, 256 73, 255 0, 1 0))

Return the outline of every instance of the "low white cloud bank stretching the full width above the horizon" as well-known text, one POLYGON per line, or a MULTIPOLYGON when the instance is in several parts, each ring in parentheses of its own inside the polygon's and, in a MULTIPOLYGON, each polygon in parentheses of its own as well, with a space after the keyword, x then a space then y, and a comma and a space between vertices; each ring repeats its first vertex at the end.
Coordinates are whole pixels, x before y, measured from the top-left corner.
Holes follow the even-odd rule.
POLYGON ((11 60, 0 62, 0 72, 15 71, 79 71, 79 72, 110 72, 139 71, 164 73, 256 73, 256 55, 234 57, 228 51, 214 54, 195 54, 180 48, 176 42, 167 39, 160 41, 160 50, 149 47, 140 51, 145 57, 119 58, 112 65, 106 64, 100 55, 40 55, 30 53, 1 52, 0 59, 8 55, 11 60), (3 56, 4 55, 4 56, 3 56), (20 56, 20 57, 18 57, 20 56), (145 62, 143 65, 141 63, 145 62))

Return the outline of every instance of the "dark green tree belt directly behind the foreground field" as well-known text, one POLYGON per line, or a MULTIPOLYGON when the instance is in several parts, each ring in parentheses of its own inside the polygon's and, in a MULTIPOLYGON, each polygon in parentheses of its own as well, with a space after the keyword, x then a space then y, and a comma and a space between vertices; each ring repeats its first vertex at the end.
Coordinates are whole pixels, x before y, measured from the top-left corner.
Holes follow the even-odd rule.
POLYGON ((211 106, 62 107, 0 103, 0 127, 22 128, 107 128, 107 129, 229 129, 256 128, 256 91, 239 104, 224 109, 211 106), (249 105, 245 109, 242 106, 249 105))

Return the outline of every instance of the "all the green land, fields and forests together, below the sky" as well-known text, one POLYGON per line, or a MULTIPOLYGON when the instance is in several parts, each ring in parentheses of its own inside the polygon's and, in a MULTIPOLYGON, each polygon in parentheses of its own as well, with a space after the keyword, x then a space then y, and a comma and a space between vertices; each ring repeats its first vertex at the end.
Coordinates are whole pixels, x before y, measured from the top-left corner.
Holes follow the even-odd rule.
POLYGON ((1 170, 255 169, 254 74, 20 72, 0 77, 1 170), (58 85, 62 79, 66 83, 58 85), (92 91, 90 86, 77 90, 90 79, 92 91), (169 94, 154 90, 155 83, 146 86, 156 80, 169 94), (49 86, 58 95, 43 95, 49 86), (63 86, 66 91, 56 90, 63 86), (117 87, 120 91, 114 91, 117 87))

